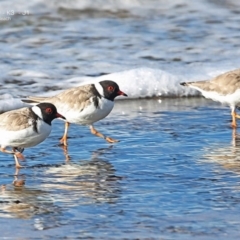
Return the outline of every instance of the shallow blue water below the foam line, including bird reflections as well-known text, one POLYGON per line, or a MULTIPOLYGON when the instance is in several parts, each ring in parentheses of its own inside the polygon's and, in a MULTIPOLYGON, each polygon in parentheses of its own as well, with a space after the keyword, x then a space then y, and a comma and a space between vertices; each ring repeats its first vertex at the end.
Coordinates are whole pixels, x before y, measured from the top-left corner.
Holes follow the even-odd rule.
POLYGON ((55 121, 45 142, 25 150, 23 188, 11 184, 12 157, 0 155, 2 236, 239 237, 239 141, 228 108, 202 98, 121 101, 96 128, 120 142, 72 125, 64 152, 55 121))

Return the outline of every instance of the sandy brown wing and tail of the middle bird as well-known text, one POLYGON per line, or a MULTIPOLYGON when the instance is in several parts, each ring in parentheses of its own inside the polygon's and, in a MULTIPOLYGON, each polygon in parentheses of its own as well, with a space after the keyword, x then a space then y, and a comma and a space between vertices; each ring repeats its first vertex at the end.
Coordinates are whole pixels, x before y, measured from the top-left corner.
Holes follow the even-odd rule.
POLYGON ((82 111, 82 109, 89 105, 94 98, 93 92, 96 93, 96 89, 93 84, 87 84, 80 87, 74 87, 67 89, 55 96, 52 97, 34 97, 29 96, 28 99, 33 102, 50 102, 56 106, 56 108, 61 113, 61 109, 71 108, 78 109, 82 111))

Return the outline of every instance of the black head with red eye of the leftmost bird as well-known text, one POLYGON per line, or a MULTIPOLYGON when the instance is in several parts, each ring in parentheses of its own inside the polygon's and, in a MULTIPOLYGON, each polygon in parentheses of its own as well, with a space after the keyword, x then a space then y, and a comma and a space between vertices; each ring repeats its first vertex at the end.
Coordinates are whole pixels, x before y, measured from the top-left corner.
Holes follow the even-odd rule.
POLYGON ((36 105, 36 107, 40 108, 43 121, 49 125, 51 125, 52 120, 55 118, 66 119, 57 112, 57 108, 52 103, 39 103, 36 105))

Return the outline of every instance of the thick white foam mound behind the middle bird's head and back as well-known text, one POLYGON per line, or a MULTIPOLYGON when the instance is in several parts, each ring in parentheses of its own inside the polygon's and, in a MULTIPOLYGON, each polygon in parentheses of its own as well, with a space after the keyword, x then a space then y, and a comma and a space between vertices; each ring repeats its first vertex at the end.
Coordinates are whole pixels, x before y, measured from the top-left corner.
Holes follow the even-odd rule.
POLYGON ((180 86, 180 82, 186 81, 183 76, 176 76, 159 69, 151 68, 131 69, 95 78, 72 78, 66 82, 68 82, 68 85, 79 86, 101 80, 115 81, 120 89, 128 94, 128 98, 130 99, 199 95, 197 91, 180 86))

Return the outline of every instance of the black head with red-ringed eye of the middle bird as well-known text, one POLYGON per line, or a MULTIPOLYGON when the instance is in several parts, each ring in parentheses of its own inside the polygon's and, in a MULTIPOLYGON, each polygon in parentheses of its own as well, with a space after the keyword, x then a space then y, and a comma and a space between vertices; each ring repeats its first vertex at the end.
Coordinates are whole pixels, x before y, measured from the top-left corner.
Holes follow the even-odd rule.
POLYGON ((120 95, 127 97, 127 94, 119 89, 117 83, 110 80, 104 80, 99 83, 103 88, 104 97, 107 98, 108 100, 113 101, 115 97, 120 95))

